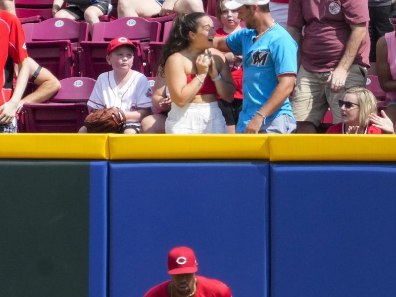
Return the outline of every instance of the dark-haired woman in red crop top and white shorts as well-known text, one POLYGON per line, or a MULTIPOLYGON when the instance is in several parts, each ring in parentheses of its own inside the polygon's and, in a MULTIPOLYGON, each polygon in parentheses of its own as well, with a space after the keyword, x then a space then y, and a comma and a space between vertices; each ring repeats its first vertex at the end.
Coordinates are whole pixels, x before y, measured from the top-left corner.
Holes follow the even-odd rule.
POLYGON ((235 85, 224 54, 211 48, 215 34, 203 12, 173 21, 159 62, 159 75, 165 76, 172 100, 166 133, 227 133, 216 95, 231 102, 235 85))

